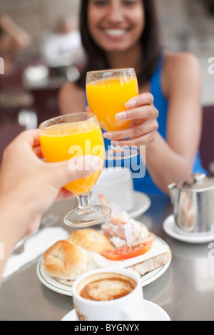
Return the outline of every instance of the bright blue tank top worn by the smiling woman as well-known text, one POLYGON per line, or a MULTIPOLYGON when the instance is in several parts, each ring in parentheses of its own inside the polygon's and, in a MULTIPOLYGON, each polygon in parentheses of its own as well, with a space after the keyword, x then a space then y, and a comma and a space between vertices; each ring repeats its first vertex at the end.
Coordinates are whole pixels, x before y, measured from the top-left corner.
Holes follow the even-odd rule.
MULTIPOLYGON (((163 91, 161 88, 161 74, 163 68, 163 55, 161 54, 160 59, 158 61, 158 66, 156 68, 155 73, 150 81, 150 92, 154 97, 154 105, 159 111, 158 116, 158 132, 161 136, 166 139, 166 122, 167 122, 167 113, 168 113, 168 101, 165 99, 163 95, 163 91)), ((87 103, 87 100, 86 100, 87 103)), ((103 131, 104 132, 104 131, 103 131)), ((111 141, 105 138, 105 148, 106 150, 110 148, 111 141)), ((146 169, 143 161, 138 155, 135 158, 126 159, 126 160, 106 160, 106 167, 113 166, 122 166, 129 168, 133 173, 133 185, 136 191, 144 192, 147 194, 162 194, 163 192, 158 189, 158 187, 153 182, 151 176, 146 169)), ((195 157, 195 163, 193 167, 193 172, 203 172, 207 174, 207 172, 203 169, 200 161, 200 155, 197 153, 195 157)))

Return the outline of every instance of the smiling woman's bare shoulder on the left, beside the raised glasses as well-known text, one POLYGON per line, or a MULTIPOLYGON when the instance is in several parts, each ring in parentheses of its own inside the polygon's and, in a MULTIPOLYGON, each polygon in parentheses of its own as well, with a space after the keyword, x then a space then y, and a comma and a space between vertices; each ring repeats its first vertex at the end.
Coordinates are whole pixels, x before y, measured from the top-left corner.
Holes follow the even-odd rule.
POLYGON ((65 83, 58 94, 62 114, 82 112, 86 109, 85 92, 76 83, 65 83))

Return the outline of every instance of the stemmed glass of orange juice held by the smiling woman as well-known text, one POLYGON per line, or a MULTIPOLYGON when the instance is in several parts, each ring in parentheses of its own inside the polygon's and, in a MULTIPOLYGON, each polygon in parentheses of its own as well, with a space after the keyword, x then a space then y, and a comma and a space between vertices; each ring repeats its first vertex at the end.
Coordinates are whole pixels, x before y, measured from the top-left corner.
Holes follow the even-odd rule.
MULTIPOLYGON (((128 108, 125 103, 138 96, 138 80, 134 68, 90 71, 86 76, 86 95, 91 112, 106 131, 128 128, 131 120, 117 120, 115 115, 128 108)), ((111 145, 108 160, 131 158, 138 155, 136 148, 121 148, 111 145)))

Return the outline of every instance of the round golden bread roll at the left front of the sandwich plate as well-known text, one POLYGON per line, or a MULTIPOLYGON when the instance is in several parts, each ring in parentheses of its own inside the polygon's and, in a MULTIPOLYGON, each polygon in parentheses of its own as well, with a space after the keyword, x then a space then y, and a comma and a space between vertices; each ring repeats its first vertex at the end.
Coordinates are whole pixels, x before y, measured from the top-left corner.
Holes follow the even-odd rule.
POLYGON ((86 250, 72 242, 56 242, 44 253, 44 267, 51 277, 76 278, 87 268, 86 250))

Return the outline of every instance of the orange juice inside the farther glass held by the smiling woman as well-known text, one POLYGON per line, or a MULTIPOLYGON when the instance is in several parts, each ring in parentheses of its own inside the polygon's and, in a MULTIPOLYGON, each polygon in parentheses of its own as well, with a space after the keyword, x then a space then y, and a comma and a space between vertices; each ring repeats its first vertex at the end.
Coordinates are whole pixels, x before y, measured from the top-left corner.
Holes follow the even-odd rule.
POLYGON ((131 120, 116 120, 117 113, 126 110, 125 103, 138 96, 138 81, 131 77, 116 77, 87 83, 86 94, 91 112, 96 114, 106 131, 126 129, 131 120))

